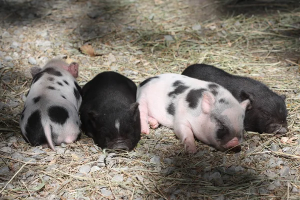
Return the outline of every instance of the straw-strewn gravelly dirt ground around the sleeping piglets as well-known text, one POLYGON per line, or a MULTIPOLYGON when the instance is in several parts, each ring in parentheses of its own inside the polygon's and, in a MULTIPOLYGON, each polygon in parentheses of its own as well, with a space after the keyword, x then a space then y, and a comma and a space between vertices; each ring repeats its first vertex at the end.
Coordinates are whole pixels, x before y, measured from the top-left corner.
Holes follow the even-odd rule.
POLYGON ((0 0, 0 199, 299 199, 299 39, 298 0, 0 0), (30 146, 18 125, 29 68, 53 57, 79 63, 80 86, 213 64, 285 94, 289 131, 246 132, 238 153, 196 141, 187 155, 163 126, 131 152, 85 135, 30 146))

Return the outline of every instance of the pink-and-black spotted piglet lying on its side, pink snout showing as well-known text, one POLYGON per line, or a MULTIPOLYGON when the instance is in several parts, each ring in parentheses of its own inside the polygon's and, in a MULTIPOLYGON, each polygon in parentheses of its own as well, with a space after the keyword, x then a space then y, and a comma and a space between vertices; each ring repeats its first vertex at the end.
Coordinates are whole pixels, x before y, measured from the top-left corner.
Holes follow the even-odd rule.
POLYGON ((224 87, 185 75, 165 73, 137 87, 141 132, 159 123, 174 129, 185 151, 196 152, 194 136, 225 151, 240 150, 246 99, 239 103, 224 87))

